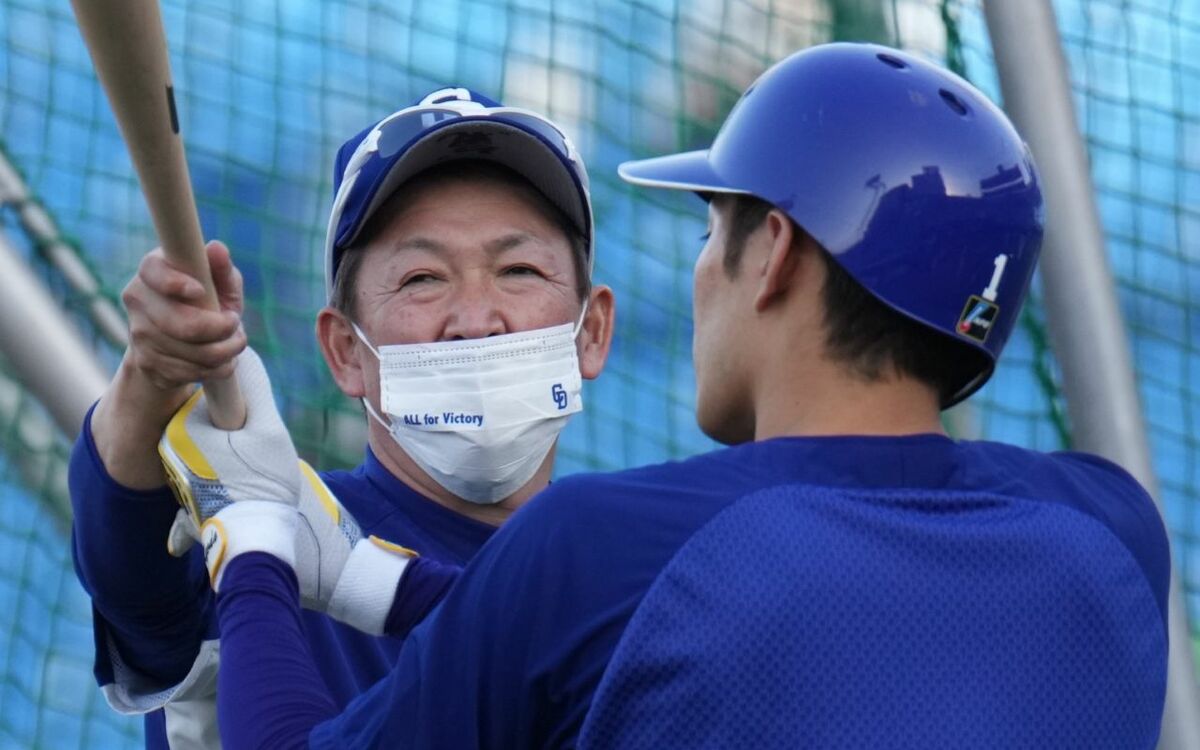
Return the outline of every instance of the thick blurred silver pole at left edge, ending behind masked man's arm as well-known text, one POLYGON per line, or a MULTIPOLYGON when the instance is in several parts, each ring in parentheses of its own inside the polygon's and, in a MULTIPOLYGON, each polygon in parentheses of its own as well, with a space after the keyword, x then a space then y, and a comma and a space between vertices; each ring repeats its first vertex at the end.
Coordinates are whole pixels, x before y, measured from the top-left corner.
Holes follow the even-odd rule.
POLYGON ((0 350, 70 438, 108 376, 25 259, 0 232, 0 350))

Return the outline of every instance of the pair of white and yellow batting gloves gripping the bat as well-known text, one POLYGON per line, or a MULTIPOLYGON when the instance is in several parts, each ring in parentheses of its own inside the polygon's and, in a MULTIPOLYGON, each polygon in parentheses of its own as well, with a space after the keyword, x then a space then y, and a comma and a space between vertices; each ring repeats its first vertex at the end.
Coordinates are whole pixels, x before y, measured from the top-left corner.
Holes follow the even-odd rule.
POLYGON ((160 440, 158 452, 182 506, 168 548, 182 554, 203 541, 217 590, 230 559, 269 552, 295 570, 306 608, 382 634, 416 553, 376 536, 364 539, 320 476, 299 460, 253 350, 239 356, 236 378, 246 401, 241 430, 215 427, 204 394, 197 391, 160 440))

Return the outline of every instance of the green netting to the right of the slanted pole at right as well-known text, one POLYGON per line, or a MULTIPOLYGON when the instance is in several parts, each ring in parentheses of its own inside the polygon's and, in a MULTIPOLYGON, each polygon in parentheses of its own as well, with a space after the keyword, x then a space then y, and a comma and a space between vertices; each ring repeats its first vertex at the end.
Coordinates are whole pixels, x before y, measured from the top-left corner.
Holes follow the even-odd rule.
MULTIPOLYGON (((1200 4, 1063 11, 1154 468, 1200 634, 1200 4)), ((1193 640, 1200 656, 1200 638, 1193 640)))

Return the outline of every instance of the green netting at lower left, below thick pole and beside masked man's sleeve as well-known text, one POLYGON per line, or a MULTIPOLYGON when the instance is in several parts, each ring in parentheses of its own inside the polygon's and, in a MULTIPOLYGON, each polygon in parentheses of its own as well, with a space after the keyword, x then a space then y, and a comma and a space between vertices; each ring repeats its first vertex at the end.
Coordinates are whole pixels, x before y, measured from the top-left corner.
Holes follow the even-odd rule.
POLYGON ((68 445, 0 366, 0 748, 133 746, 91 677, 91 606, 71 568, 68 445))

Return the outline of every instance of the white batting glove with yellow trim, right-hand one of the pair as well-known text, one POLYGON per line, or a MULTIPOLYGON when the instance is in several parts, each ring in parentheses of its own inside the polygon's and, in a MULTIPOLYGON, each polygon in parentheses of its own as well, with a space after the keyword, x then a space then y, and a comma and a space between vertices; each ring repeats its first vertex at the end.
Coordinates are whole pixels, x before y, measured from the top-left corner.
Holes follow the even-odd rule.
POLYGON ((382 635, 412 550, 362 538, 320 476, 304 461, 295 571, 300 604, 372 635, 382 635))

